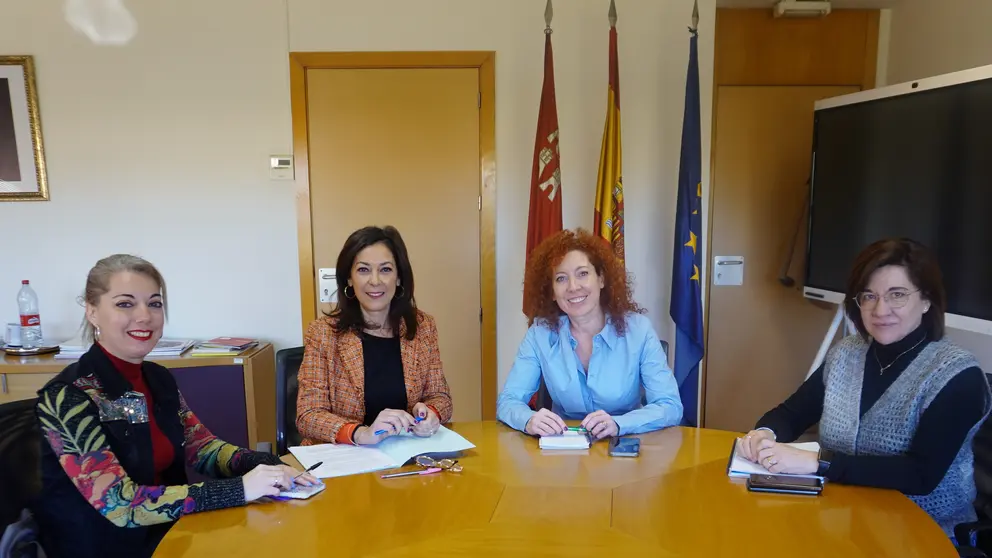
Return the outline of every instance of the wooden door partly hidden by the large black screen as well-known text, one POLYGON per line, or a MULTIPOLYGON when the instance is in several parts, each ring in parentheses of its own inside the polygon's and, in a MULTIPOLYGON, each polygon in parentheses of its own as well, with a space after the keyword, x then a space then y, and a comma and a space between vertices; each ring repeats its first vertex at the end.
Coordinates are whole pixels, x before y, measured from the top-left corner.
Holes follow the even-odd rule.
POLYGON ((717 90, 711 254, 743 256, 740 286, 710 273, 705 425, 747 431, 803 382, 836 307, 802 296, 805 222, 792 287, 780 268, 805 203, 813 103, 848 86, 722 86, 717 90))

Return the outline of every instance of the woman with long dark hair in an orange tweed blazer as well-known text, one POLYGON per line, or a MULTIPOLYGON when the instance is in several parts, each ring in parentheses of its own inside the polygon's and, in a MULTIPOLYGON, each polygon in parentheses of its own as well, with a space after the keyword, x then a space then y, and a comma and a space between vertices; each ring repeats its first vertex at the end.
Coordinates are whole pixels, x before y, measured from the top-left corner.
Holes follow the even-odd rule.
POLYGON ((338 306, 310 324, 305 338, 296 404, 303 444, 433 435, 451 420, 451 396, 437 326, 417 308, 399 231, 355 231, 337 270, 338 306))

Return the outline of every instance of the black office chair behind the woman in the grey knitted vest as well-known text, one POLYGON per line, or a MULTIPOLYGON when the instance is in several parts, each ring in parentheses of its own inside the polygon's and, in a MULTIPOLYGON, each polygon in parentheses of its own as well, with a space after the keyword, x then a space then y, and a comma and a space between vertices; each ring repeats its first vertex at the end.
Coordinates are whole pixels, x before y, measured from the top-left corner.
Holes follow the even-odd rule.
MULTIPOLYGON (((992 374, 985 379, 992 385, 992 374)), ((954 527, 954 538, 958 542, 958 554, 973 558, 992 557, 992 419, 987 419, 972 443, 975 452, 975 512, 978 520, 962 523, 954 527), (971 545, 972 536, 976 543, 971 545)))

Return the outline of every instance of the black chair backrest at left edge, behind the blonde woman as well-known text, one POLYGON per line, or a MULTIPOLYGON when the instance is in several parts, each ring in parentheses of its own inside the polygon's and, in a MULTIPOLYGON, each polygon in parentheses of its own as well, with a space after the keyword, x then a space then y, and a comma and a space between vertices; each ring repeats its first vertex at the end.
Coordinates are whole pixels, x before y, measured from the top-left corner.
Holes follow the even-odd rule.
POLYGON ((0 534, 20 519, 41 490, 41 429, 37 398, 0 405, 0 534))

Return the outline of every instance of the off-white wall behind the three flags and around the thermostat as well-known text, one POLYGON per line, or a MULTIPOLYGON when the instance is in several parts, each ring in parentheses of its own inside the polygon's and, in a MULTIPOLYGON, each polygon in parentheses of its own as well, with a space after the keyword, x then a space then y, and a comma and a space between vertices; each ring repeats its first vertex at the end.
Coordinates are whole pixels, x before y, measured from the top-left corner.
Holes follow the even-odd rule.
MULTIPOLYGON (((19 280, 30 278, 46 334, 70 336, 81 316, 75 298, 86 271, 99 257, 124 251, 149 258, 167 277, 168 335, 253 335, 299 344, 293 188, 269 181, 266 168, 267 155, 292 151, 288 52, 494 50, 502 384, 525 330, 522 252, 543 1, 130 0, 139 32, 122 48, 96 47, 76 35, 59 4, 0 0, 0 52, 35 55, 52 196, 0 204, 0 238, 30 234, 34 246, 0 260, 0 317, 16 317, 19 280)), ((555 3, 566 227, 592 223, 608 5, 555 3)), ((620 0, 617 9, 627 266, 639 302, 671 339, 692 0, 620 0)), ((700 16, 705 162, 714 0, 700 2, 700 16)), ((704 163, 704 190, 708 174, 704 163)))

